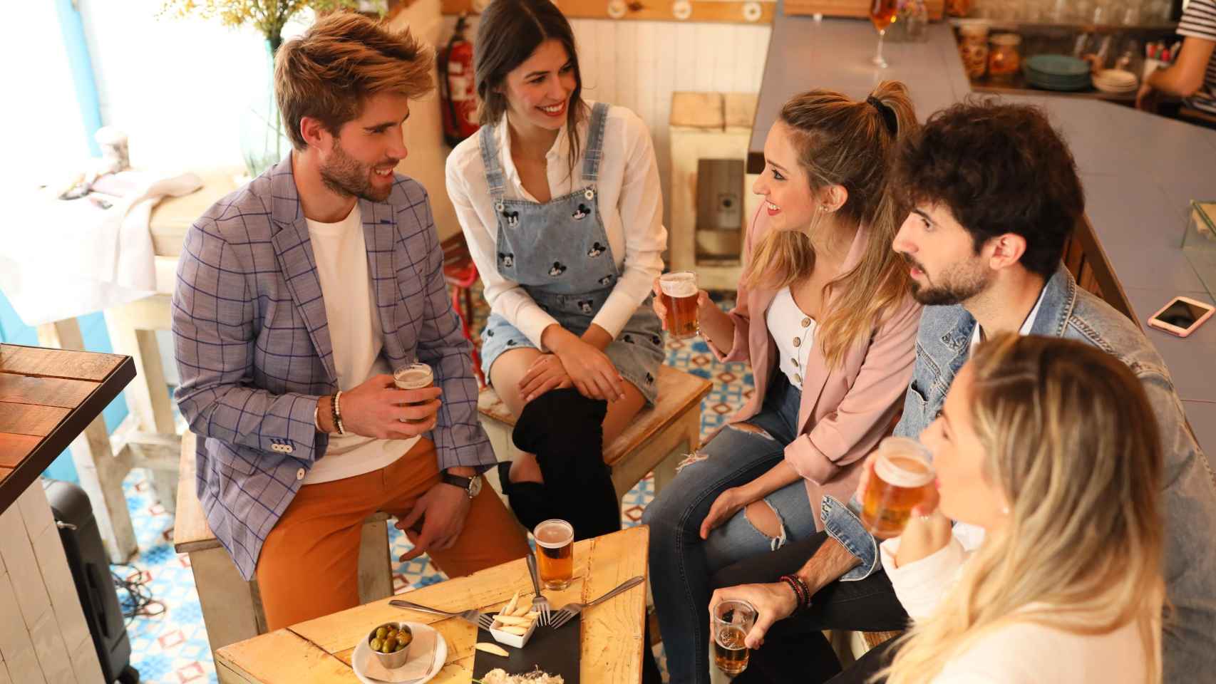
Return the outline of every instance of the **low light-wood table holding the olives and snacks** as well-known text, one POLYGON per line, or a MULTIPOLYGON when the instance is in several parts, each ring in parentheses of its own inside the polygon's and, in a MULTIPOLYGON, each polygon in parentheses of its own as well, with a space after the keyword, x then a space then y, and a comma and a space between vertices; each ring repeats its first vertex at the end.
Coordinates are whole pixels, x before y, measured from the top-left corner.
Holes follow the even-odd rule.
MULTIPOLYGON (((635 575, 644 576, 648 539, 649 528, 642 526, 578 542, 574 582, 564 592, 545 595, 554 606, 585 603, 635 575)), ((517 589, 528 597, 533 593, 523 559, 416 589, 407 597, 441 610, 478 607, 484 612, 499 609, 517 589)), ((584 614, 582 684, 641 682, 644 617, 644 584, 584 614)), ((372 627, 390 620, 429 623, 444 635, 447 665, 432 682, 465 684, 472 679, 477 634, 472 624, 396 609, 388 599, 225 646, 215 654, 215 671, 224 684, 358 684, 350 667, 355 644, 372 627)))

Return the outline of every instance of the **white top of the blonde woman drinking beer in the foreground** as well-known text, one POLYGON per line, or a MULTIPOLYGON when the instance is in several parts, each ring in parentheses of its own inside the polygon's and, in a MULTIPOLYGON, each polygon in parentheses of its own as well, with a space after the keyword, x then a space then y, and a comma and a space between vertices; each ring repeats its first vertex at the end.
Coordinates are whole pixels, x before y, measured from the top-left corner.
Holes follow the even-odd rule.
MULTIPOLYGON (((899 537, 879 545, 883 569, 913 621, 936 612, 974 553, 951 537, 936 553, 896 567, 899 549, 899 537)), ((1148 668, 1136 622, 1108 634, 1075 634, 1028 621, 989 632, 951 658, 931 684, 1143 684, 1148 668)))

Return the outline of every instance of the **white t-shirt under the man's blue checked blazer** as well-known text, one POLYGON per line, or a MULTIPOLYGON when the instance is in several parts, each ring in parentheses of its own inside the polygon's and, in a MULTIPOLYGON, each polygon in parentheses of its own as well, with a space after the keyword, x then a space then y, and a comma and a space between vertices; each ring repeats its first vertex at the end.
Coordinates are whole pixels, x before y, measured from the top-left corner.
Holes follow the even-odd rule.
MULTIPOLYGON (((384 333, 367 272, 359 204, 355 203, 350 214, 337 224, 308 219, 308 234, 330 323, 338 389, 349 391, 372 375, 393 372, 381 355, 384 333)), ((303 484, 331 482, 379 470, 404 456, 417 441, 418 437, 376 440, 350 433, 330 435, 330 447, 313 464, 303 484)))

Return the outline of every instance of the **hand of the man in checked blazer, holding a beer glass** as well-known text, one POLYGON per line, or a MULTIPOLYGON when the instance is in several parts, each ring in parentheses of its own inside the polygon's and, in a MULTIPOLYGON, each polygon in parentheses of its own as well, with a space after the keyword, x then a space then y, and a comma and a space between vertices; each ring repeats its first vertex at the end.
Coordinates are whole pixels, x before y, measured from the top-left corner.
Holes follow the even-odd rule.
POLYGON ((342 423, 348 433, 377 440, 422 435, 433 430, 438 422, 441 394, 439 388, 398 389, 393 375, 375 375, 342 392, 342 423), (402 423, 402 418, 409 423, 402 423))

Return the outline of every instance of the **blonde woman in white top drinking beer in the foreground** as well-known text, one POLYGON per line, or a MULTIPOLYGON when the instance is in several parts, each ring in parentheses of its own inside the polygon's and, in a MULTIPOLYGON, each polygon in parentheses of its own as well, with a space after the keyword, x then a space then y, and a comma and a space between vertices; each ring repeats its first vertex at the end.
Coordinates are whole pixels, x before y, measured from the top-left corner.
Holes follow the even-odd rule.
POLYGON ((880 547, 913 620, 888 684, 1161 682, 1161 454, 1131 371, 1071 340, 993 338, 921 441, 936 494, 880 547))

